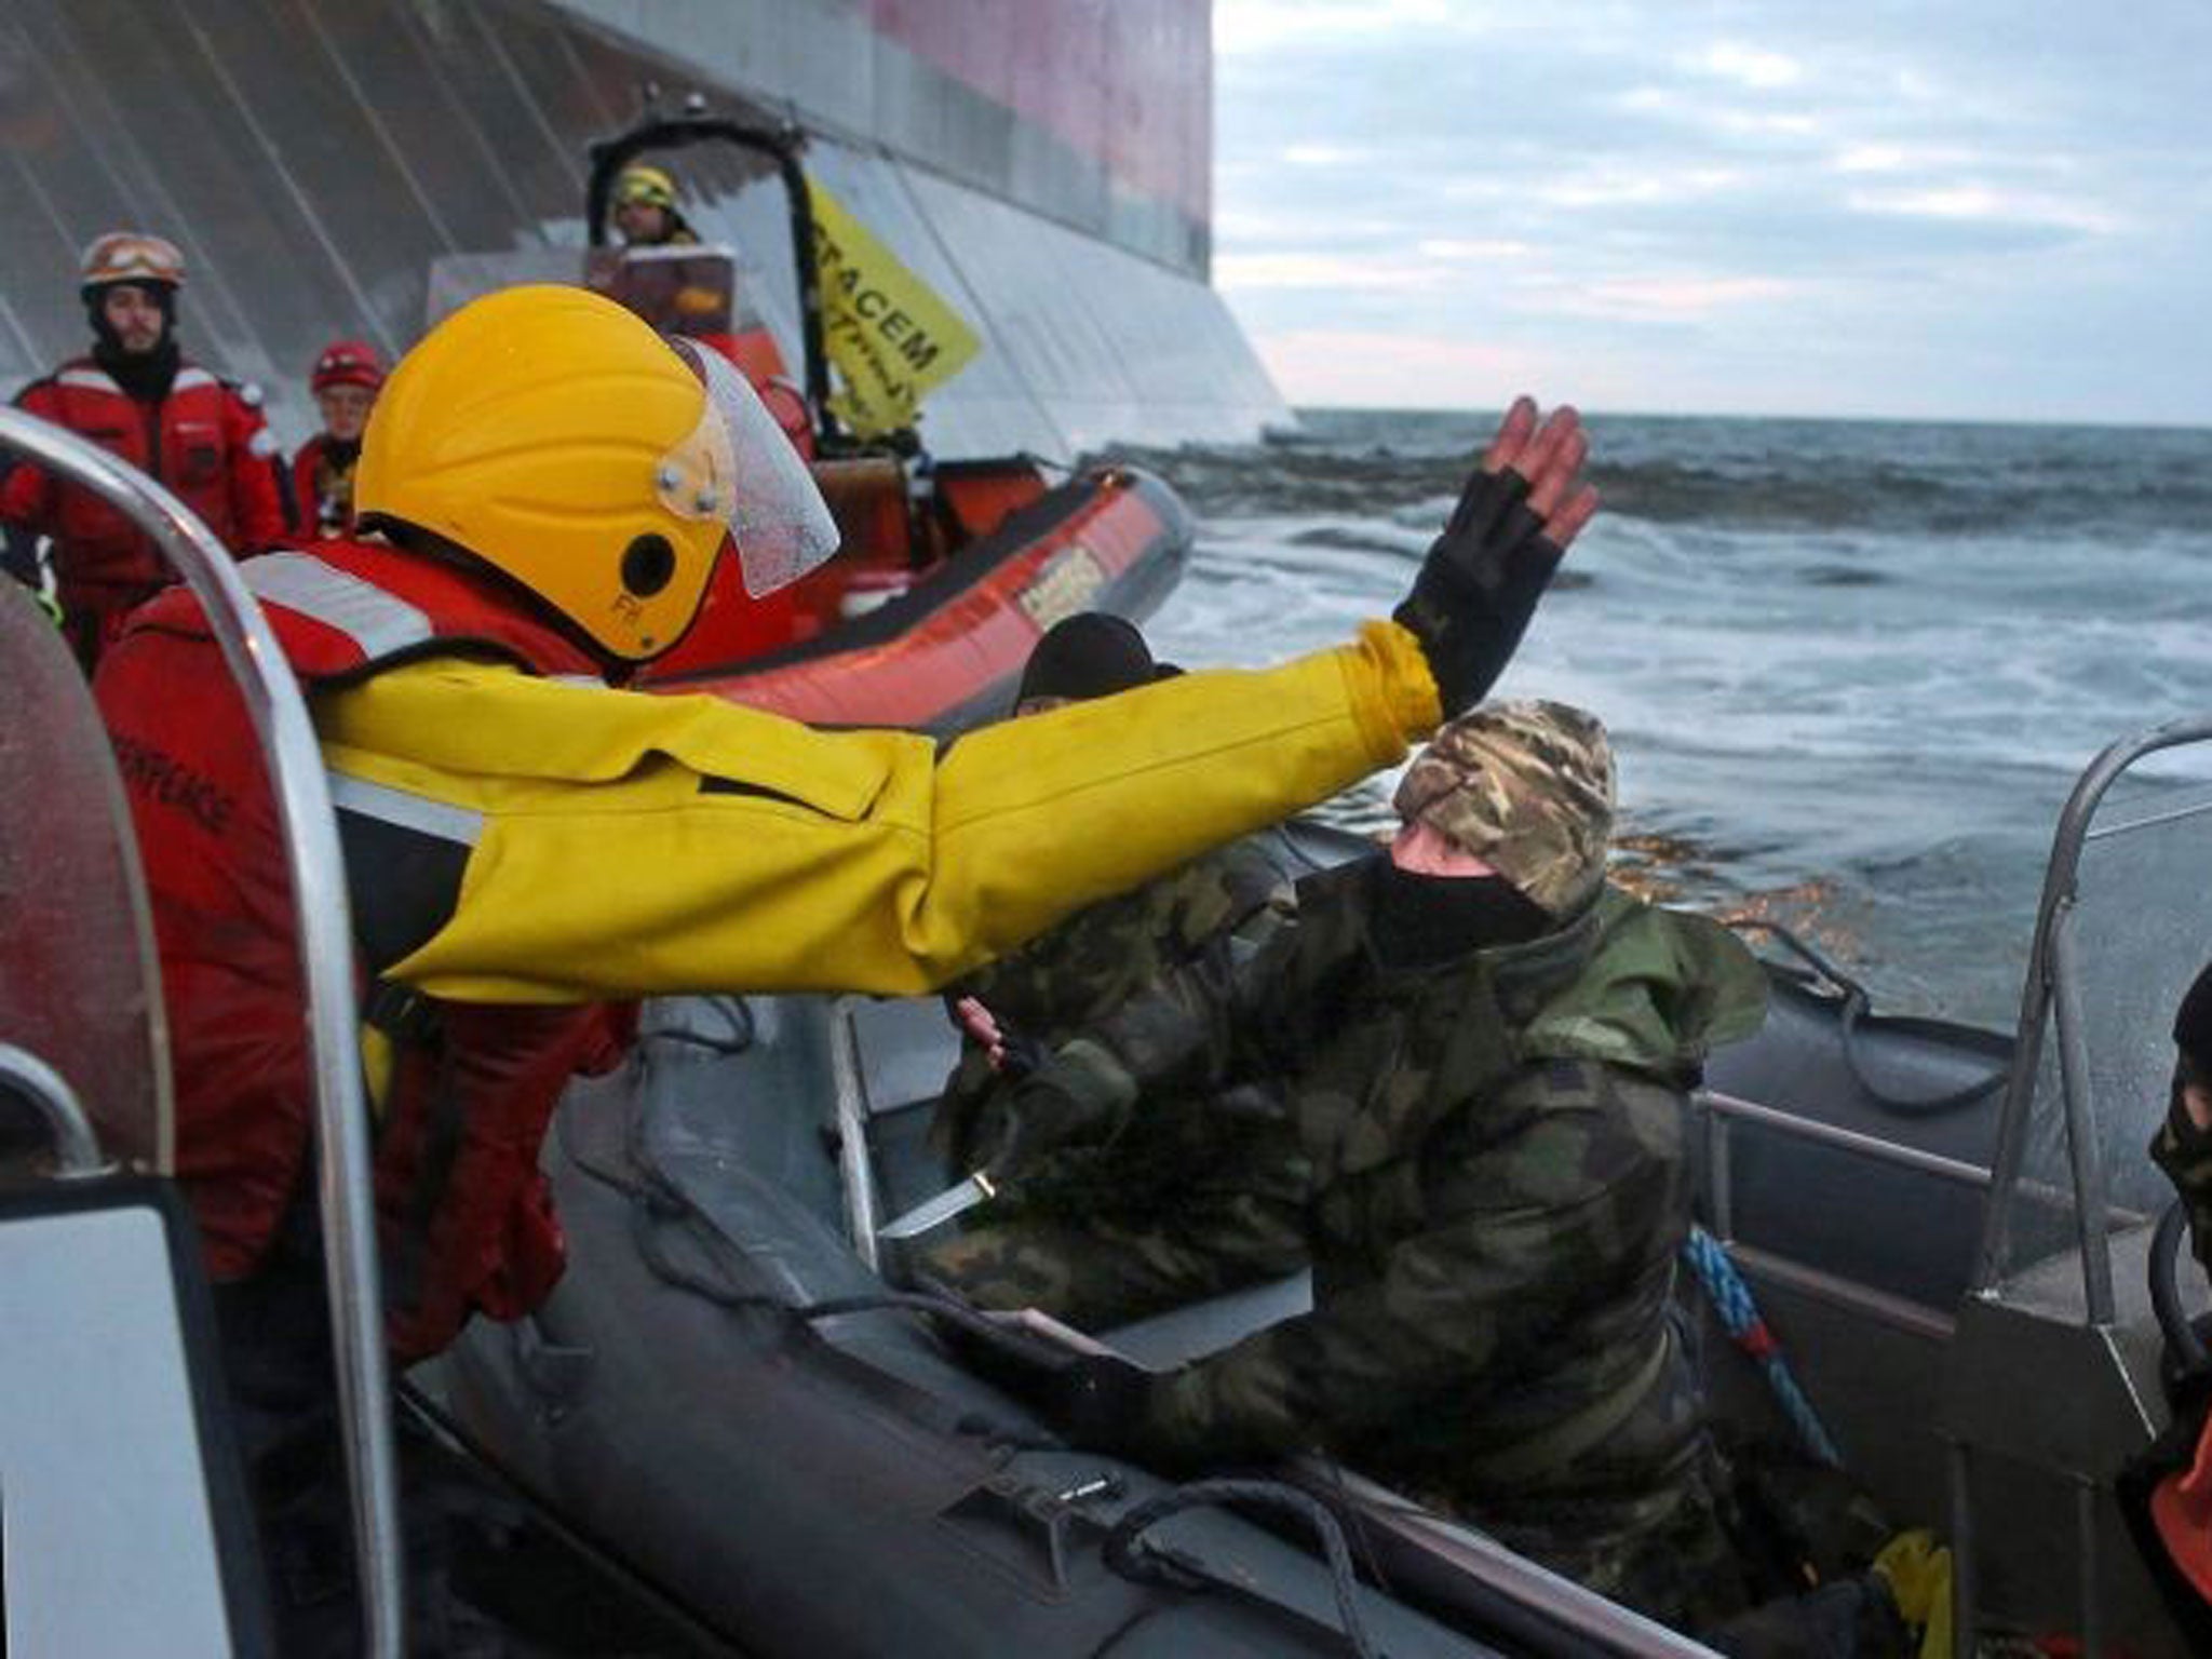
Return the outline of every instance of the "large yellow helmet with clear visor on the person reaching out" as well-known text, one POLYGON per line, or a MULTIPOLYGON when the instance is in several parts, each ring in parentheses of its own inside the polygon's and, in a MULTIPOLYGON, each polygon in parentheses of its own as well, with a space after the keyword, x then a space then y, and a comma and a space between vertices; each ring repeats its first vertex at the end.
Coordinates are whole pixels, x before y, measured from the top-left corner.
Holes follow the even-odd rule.
POLYGON ((743 376, 584 288, 487 294, 400 358, 354 511, 476 555, 626 661, 684 637, 726 535, 752 595, 836 551, 743 376))

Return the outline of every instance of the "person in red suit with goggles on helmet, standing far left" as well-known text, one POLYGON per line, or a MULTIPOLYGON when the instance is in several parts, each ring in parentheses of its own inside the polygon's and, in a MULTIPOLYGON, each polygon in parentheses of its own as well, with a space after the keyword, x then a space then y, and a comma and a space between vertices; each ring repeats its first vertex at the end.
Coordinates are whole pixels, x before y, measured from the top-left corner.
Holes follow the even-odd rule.
MULTIPOLYGON (((179 288, 175 243, 139 230, 95 237, 80 288, 93 349, 15 403, 157 478, 232 553, 261 553, 285 540, 276 440, 257 392, 177 349, 179 288)), ((49 540, 62 628, 86 672, 131 608, 175 582, 122 513, 38 467, 20 465, 0 482, 0 524, 49 540)))

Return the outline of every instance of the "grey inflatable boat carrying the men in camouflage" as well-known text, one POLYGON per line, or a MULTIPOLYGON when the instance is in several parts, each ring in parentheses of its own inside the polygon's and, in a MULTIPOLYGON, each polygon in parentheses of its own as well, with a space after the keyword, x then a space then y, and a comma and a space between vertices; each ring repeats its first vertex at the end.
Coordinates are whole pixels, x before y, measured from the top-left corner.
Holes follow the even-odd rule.
MULTIPOLYGON (((2212 796, 2115 807, 2108 790, 2141 754, 2203 739, 2212 723, 2172 728, 2090 768, 2059 825, 2017 1033, 1880 1015, 1785 938, 1763 1031, 1714 1055, 1697 1095, 1703 1223, 1845 1469, 1898 1528, 1951 1544, 1960 1630, 2183 1652, 2112 1480, 2166 1413, 2148 1292, 2166 1194, 2141 1148, 2166 1104, 2161 1020, 2212 907, 2150 920, 2130 896, 2192 838, 2203 856, 2212 796)), ((1356 849, 1312 827, 1285 845, 1290 867, 1356 849)), ((469 1433, 772 1652, 1119 1652, 1106 1608, 1157 1575, 1312 1610, 1329 1562, 1285 1522, 1290 1500, 1177 1489, 1060 1447, 1004 1343, 878 1276, 885 1219, 945 1179, 925 1130, 953 1046, 927 1000, 655 1004, 633 1066, 560 1121, 568 1281, 535 1321, 473 1327, 451 1360, 469 1433), (1186 1500, 1241 1520, 1152 1531, 1161 1511, 1197 1526, 1186 1500), (869 1595, 836 1595, 845 1568, 869 1595)), ((1683 1283, 1717 1416, 1732 1438, 1787 1440, 1763 1367, 1683 1283)), ((1305 1305, 1292 1279, 1084 1338, 1172 1365, 1305 1305)), ((1374 1615, 1389 1652, 1683 1650, 1356 1471, 1265 1478, 1356 1540, 1354 1606, 1389 1586, 1374 1615), (1429 1624, 1396 1624, 1398 1604, 1429 1624)), ((1146 1650, 1186 1650, 1177 1628, 1155 1626, 1164 1646, 1146 1650)))

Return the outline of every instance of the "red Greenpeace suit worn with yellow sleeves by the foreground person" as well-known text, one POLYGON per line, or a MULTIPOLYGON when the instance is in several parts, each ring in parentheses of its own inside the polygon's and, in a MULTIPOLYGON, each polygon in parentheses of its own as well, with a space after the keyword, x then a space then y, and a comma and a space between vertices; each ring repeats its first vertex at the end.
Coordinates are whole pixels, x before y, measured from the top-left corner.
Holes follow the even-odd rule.
MULTIPOLYGON (((301 684, 361 681, 425 650, 482 650, 535 675, 599 666, 491 582, 387 546, 325 542, 250 560, 248 586, 301 684), (396 604, 394 604, 396 602, 396 604)), ((217 1279, 252 1274, 310 1179, 305 982, 274 801, 246 706, 199 602, 137 611, 95 695, 146 854, 177 1079, 177 1175, 217 1279)), ((562 1270, 538 1148, 562 1086, 613 1066, 628 1004, 460 1004, 376 980, 436 927, 451 872, 338 796, 363 1020, 392 1042, 376 1102, 385 1312, 400 1360, 445 1347, 473 1310, 515 1318, 562 1270), (420 920, 409 920, 416 914, 420 920)))

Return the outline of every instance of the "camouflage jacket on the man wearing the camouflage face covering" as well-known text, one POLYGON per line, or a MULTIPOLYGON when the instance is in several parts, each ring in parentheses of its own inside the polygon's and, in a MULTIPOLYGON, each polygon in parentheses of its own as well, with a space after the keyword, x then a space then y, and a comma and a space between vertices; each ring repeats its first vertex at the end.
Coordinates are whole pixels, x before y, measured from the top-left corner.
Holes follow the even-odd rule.
POLYGON ((1272 1071, 1314 1166, 1314 1312, 1164 1378, 1146 1447, 1318 1444, 1460 1504, 1655 1489, 1699 1429, 1668 1314, 1683 1091, 1756 1029, 1759 967, 1606 889, 1528 945, 1394 969, 1374 874, 1310 878, 1243 971, 1175 980, 1055 1062, 1095 1099, 1272 1071))

